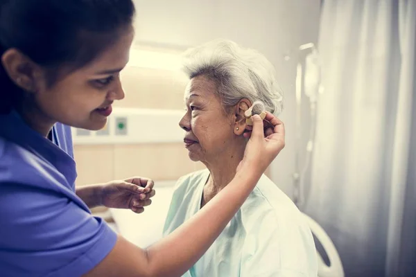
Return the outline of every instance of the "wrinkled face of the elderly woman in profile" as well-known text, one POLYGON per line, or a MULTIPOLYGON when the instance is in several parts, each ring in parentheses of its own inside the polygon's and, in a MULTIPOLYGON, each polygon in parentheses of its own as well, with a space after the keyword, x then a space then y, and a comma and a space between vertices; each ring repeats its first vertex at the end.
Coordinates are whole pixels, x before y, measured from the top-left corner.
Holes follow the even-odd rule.
POLYGON ((179 125, 186 131, 189 157, 192 161, 215 161, 234 141, 233 117, 225 114, 216 84, 202 75, 191 79, 184 98, 187 111, 179 125))

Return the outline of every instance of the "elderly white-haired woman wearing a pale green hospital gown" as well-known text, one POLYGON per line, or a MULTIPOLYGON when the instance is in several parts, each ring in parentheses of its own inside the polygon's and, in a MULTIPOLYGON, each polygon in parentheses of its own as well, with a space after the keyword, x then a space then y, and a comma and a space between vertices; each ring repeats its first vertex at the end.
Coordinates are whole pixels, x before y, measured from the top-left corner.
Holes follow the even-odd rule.
MULTIPOLYGON (((207 169, 177 181, 164 235, 234 177, 248 143, 244 112, 252 102, 261 100, 272 114, 282 109, 274 68, 256 51, 216 40, 187 51, 185 57, 190 82, 180 127, 186 132, 189 158, 207 169)), ((263 175, 225 231, 184 276, 317 276, 315 244, 291 199, 263 175)))

